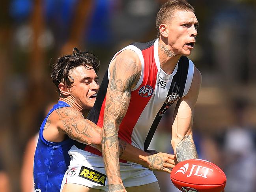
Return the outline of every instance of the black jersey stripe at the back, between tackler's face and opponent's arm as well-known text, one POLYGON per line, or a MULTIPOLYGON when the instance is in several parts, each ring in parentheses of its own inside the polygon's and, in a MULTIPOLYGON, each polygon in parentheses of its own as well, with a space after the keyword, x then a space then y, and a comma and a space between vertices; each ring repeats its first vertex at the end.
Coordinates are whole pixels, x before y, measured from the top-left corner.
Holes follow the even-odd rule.
MULTIPOLYGON (((93 108, 90 110, 87 119, 92 121, 93 123, 97 124, 99 121, 99 113, 101 112, 101 106, 105 99, 106 93, 108 88, 108 70, 106 71, 103 80, 101 82, 101 86, 99 88, 99 91, 97 93, 96 101, 93 105, 93 108)), ((79 142, 75 142, 75 146, 78 149, 84 149, 86 144, 81 144, 79 142)))

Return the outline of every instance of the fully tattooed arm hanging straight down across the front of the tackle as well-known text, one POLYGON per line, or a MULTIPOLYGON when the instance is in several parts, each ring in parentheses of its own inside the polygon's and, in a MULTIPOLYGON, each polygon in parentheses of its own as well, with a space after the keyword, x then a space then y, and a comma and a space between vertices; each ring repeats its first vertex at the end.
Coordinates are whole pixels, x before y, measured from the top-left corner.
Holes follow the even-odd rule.
POLYGON ((109 191, 125 191, 120 177, 118 129, 129 106, 131 89, 140 78, 141 63, 135 52, 124 50, 110 63, 109 71, 101 131, 103 159, 110 184, 109 191))

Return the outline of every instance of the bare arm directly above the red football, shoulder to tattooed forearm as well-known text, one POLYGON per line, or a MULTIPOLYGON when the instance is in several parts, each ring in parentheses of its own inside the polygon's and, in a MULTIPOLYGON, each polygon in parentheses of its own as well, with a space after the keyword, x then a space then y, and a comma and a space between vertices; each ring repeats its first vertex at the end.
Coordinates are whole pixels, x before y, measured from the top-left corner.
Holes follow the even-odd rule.
POLYGON ((201 86, 201 74, 194 67, 191 88, 185 97, 180 99, 174 111, 172 125, 172 147, 178 162, 198 158, 192 138, 193 109, 201 86))

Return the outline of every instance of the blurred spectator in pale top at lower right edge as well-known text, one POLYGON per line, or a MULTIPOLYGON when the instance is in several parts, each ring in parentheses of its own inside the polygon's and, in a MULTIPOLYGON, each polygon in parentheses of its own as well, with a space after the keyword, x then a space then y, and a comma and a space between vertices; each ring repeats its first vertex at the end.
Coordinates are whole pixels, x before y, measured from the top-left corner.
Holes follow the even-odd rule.
POLYGON ((226 192, 252 192, 256 188, 255 132, 246 121, 248 104, 245 99, 235 99, 232 106, 234 125, 224 136, 226 192))

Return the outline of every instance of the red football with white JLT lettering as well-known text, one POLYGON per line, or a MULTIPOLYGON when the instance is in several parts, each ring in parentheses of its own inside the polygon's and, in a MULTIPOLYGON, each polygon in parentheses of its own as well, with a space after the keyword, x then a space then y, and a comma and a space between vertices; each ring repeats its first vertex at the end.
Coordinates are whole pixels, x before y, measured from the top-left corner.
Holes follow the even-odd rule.
POLYGON ((171 180, 183 192, 221 192, 227 178, 217 165, 202 159, 190 159, 172 169, 171 180))

